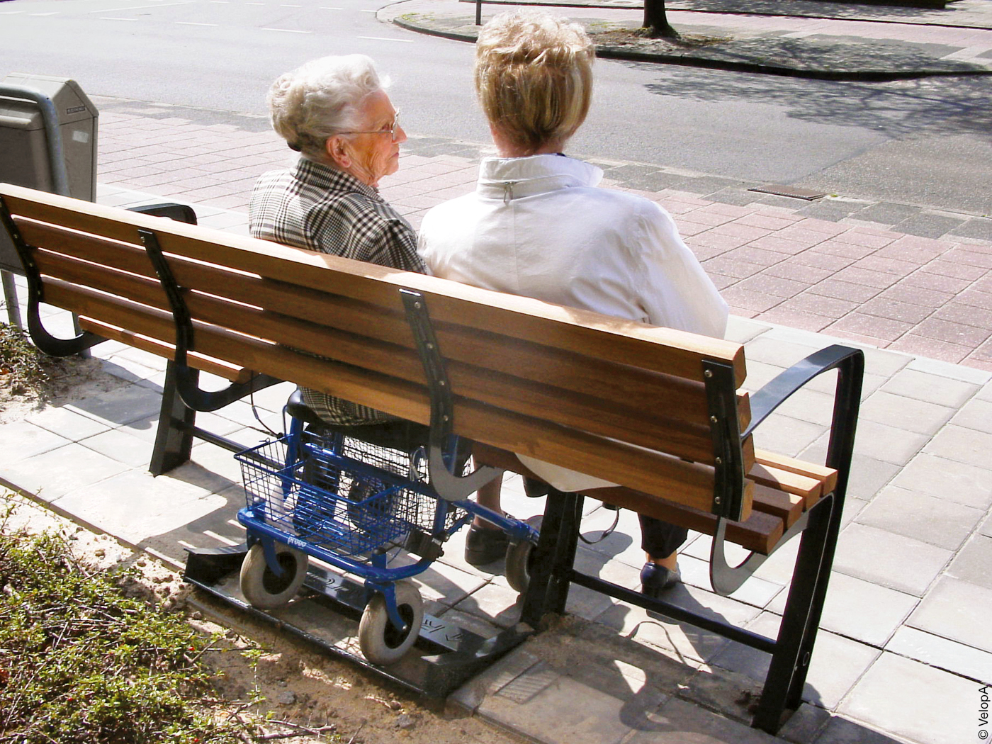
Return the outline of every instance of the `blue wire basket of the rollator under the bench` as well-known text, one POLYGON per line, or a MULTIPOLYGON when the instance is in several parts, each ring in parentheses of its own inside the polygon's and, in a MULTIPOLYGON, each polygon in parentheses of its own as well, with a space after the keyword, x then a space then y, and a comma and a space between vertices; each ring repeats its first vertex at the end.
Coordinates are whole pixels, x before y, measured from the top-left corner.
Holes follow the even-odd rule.
POLYGON ((340 434, 305 432, 239 452, 247 506, 272 526, 341 556, 403 546, 412 531, 443 539, 460 518, 424 481, 426 457, 340 434), (443 502, 441 506, 448 506, 443 502))

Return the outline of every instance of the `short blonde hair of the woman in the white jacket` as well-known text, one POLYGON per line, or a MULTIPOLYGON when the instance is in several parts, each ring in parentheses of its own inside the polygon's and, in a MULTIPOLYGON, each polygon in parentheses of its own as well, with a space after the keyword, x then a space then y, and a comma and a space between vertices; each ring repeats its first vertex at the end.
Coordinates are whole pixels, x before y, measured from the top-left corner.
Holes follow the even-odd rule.
POLYGON ((527 152, 564 141, 585 121, 595 51, 585 31, 542 11, 494 16, 475 45, 475 90, 486 117, 527 152))

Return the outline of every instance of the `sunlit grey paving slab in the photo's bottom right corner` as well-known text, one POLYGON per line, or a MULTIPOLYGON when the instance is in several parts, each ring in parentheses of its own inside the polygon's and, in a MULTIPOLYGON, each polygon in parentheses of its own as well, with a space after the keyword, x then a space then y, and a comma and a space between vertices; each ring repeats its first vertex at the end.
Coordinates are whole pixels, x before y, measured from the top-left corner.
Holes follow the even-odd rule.
POLYGON ((838 712, 921 744, 978 740, 978 684, 885 653, 838 712))

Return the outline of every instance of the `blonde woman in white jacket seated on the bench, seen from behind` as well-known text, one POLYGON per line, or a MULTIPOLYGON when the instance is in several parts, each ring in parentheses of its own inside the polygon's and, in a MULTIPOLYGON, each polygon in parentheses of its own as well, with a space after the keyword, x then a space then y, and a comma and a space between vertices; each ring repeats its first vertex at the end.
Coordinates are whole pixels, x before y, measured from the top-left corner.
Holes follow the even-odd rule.
MULTIPOLYGON (((494 17, 479 32, 475 87, 499 157, 475 190, 424 218, 420 252, 440 277, 498 292, 722 336, 727 305, 685 247, 675 222, 642 196, 599 188, 600 169, 562 155, 585 120, 594 52, 580 26, 544 12, 494 17)), ((560 491, 604 481, 519 456, 560 491)), ((499 482, 478 493, 500 508, 499 482)), ((505 552, 504 533, 476 520, 465 558, 505 552)), ((680 578, 682 528, 641 515, 642 591, 680 578)))

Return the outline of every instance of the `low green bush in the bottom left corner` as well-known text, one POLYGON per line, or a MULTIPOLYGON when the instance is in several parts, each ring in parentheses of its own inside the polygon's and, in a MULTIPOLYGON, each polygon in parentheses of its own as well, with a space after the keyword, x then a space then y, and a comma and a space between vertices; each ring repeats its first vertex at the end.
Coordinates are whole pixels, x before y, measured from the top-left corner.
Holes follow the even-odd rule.
POLYGON ((90 575, 59 535, 0 531, 0 742, 244 741, 211 714, 210 639, 121 576, 90 575))

